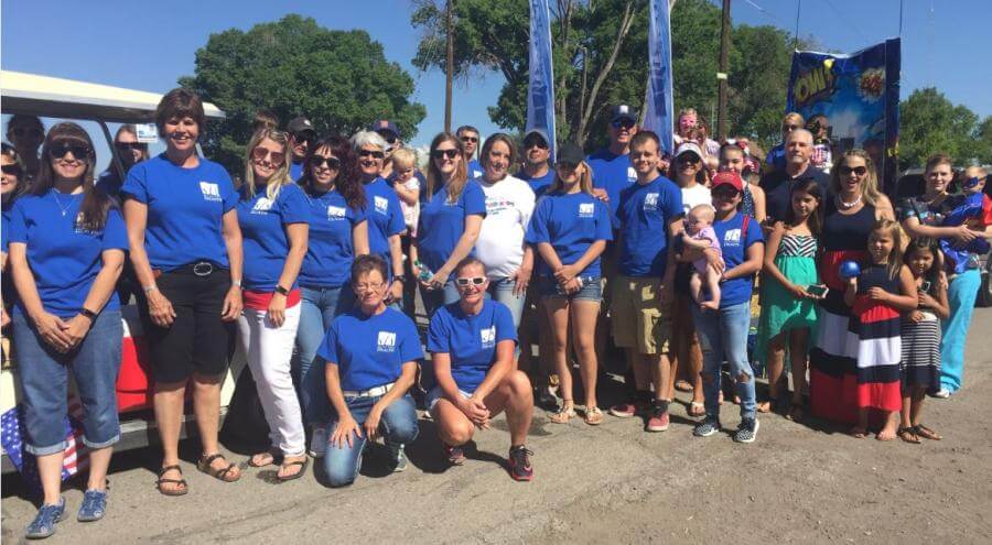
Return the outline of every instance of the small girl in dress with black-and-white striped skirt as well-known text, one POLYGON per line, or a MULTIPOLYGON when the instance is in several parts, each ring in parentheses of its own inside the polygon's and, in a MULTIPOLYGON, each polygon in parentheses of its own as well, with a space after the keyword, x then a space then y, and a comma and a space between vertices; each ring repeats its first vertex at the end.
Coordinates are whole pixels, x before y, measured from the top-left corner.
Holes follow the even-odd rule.
POLYGON ((940 250, 930 238, 914 239, 906 248, 904 262, 913 274, 918 307, 903 314, 903 411, 899 438, 919 443, 919 438, 941 437, 919 423, 927 390, 940 388, 940 320, 950 316, 947 287, 939 282, 940 250))

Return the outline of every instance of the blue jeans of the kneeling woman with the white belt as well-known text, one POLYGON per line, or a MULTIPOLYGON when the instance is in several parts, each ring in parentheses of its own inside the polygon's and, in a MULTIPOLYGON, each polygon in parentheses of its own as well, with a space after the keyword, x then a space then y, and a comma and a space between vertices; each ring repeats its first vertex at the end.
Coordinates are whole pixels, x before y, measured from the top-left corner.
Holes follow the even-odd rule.
MULTIPOLYGON (((369 411, 381 396, 376 397, 345 397, 348 411, 358 425, 363 425, 368 417, 369 411)), ((337 426, 337 417, 331 422, 327 428, 327 436, 334 432, 337 426)), ((413 408, 413 397, 406 394, 393 401, 382 411, 382 418, 379 421, 379 433, 386 439, 387 445, 407 445, 417 438, 420 429, 417 427, 417 413, 413 408)), ((363 435, 365 433, 363 432, 363 435)), ((334 445, 327 445, 327 451, 324 454, 324 471, 327 473, 327 480, 332 487, 346 487, 358 477, 358 470, 362 469, 362 450, 365 449, 367 437, 353 437, 352 446, 347 443, 342 448, 334 445)))

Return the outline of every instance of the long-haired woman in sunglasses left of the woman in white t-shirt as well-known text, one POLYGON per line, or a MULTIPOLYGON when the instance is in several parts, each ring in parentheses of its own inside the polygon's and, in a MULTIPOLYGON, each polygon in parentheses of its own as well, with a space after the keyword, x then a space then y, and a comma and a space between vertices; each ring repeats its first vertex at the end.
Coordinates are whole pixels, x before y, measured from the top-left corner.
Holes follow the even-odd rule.
POLYGON ((442 132, 434 137, 430 154, 429 200, 420 208, 410 262, 413 274, 428 279, 420 281, 420 296, 428 316, 433 316, 441 305, 459 301, 449 276, 475 248, 486 216, 486 196, 477 182, 468 179, 465 149, 454 134, 442 132))

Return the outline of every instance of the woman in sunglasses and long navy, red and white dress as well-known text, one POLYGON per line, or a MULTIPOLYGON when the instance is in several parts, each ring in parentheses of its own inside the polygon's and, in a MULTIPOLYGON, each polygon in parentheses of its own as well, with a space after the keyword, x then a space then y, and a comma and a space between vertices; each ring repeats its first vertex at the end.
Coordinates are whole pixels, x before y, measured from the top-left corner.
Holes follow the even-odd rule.
POLYGON ((869 236, 880 219, 893 219, 892 205, 878 192, 875 167, 864 150, 844 152, 831 173, 823 203, 820 277, 829 288, 820 301, 816 339, 809 352, 809 408, 813 416, 858 422, 858 334, 849 330, 851 307, 844 303, 845 261, 869 264, 869 236))

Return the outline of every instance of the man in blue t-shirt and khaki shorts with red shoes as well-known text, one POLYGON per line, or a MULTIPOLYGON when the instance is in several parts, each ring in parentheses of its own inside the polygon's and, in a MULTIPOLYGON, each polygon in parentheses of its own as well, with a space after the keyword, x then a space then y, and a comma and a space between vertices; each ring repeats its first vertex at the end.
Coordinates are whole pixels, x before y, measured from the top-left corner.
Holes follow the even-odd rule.
POLYGON ((613 340, 624 348, 633 371, 635 397, 611 407, 618 417, 634 416, 650 408, 645 429, 668 429, 669 380, 668 339, 671 314, 662 306, 662 291, 671 293, 675 260, 669 259, 671 238, 682 227, 682 193, 658 173, 661 142, 650 131, 630 140, 630 164, 636 183, 621 190, 616 216, 618 276, 611 282, 613 340), (654 404, 651 404, 654 386, 654 404))

